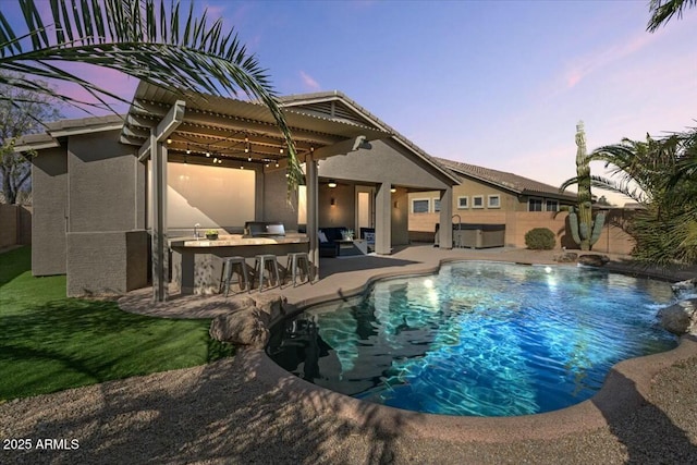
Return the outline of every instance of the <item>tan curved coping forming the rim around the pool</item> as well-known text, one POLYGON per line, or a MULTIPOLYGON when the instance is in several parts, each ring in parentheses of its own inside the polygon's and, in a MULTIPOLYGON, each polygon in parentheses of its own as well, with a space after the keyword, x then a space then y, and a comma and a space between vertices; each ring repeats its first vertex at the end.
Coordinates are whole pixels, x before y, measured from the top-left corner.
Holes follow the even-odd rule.
MULTIPOLYGON (((546 266, 527 261, 493 259, 443 258, 438 265, 407 272, 384 272, 369 277, 363 285, 335 294, 313 296, 293 303, 296 307, 286 318, 319 303, 354 298, 365 293, 379 280, 424 276, 437 272, 443 265, 454 261, 491 261, 530 266, 546 266)), ((575 264, 570 264, 575 266, 575 264)), ((567 266, 557 264, 555 266, 567 266)), ((608 268, 623 273, 621 269, 608 268)), ((641 276, 636 270, 629 273, 641 276)), ((650 278, 650 277, 648 277, 650 278)), ((276 320, 276 325, 280 320, 276 320)), ((592 397, 559 411, 515 417, 470 417, 425 414, 372 404, 350 397, 305 381, 277 365, 262 348, 245 348, 239 353, 241 363, 259 380, 277 384, 294 394, 297 402, 308 403, 317 409, 331 409, 346 420, 364 427, 380 428, 386 432, 399 432, 415 438, 433 438, 456 441, 510 442, 511 440, 554 439, 580 431, 609 426, 648 403, 651 380, 681 360, 697 356, 697 336, 683 335, 677 347, 659 354, 631 358, 614 365, 606 381, 592 397)))

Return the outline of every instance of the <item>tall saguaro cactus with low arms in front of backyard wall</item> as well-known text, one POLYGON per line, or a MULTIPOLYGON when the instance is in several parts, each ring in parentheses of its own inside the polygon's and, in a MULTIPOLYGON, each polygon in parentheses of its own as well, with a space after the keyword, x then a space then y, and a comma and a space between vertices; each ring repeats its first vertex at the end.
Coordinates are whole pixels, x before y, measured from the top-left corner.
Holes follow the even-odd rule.
POLYGON ((602 225, 606 222, 603 212, 598 212, 592 218, 592 196, 590 194, 590 166, 586 154, 586 132, 584 122, 576 124, 576 181, 578 184, 578 208, 568 209, 568 225, 574 242, 582 250, 590 250, 590 247, 600 238, 602 225))

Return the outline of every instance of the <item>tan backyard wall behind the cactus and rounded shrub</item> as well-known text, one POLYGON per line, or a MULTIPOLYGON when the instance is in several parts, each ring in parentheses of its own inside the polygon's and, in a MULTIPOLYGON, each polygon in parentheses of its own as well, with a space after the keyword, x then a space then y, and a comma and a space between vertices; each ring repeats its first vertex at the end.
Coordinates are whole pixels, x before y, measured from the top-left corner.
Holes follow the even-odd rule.
MULTIPOLYGON (((409 216, 409 237, 412 241, 432 242, 432 224, 438 222, 439 213, 418 213, 409 216), (430 229, 430 230, 429 230, 430 229)), ((634 240, 623 229, 634 215, 632 210, 621 208, 608 210, 606 225, 594 252, 628 255, 634 240)), ((505 224, 505 244, 525 248, 525 233, 534 228, 547 228, 557 236, 557 248, 577 249, 568 230, 568 213, 547 211, 481 211, 467 215, 468 224, 505 224)), ((464 221, 463 221, 464 222, 464 221)))

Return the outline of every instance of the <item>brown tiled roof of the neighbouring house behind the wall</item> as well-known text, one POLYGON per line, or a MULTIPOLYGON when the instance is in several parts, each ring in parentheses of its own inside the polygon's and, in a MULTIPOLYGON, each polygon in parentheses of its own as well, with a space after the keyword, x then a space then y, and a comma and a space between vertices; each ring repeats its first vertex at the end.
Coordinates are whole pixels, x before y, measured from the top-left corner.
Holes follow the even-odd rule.
POLYGON ((438 158, 437 160, 460 176, 474 178, 478 181, 493 184, 515 194, 533 196, 540 195, 545 197, 576 200, 576 194, 562 193, 559 191, 559 187, 545 184, 529 178, 523 178, 517 174, 492 170, 490 168, 477 167, 476 164, 447 160, 444 158, 438 158))

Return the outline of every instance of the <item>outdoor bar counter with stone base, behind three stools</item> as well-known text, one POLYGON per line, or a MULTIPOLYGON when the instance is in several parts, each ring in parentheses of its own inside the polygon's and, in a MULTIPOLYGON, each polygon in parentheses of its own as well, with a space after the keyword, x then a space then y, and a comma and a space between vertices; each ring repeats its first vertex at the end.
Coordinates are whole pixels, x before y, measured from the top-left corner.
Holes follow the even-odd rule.
MULTIPOLYGON (((245 257, 252 278, 254 257, 273 254, 278 258, 281 278, 284 276, 288 254, 308 252, 309 238, 305 234, 288 233, 277 237, 246 237, 242 234, 220 235, 217 240, 176 237, 170 240, 172 249, 172 282, 182 294, 215 294, 220 290, 222 259, 245 257)), ((236 279, 236 276, 233 280, 236 279)))

